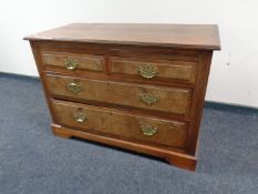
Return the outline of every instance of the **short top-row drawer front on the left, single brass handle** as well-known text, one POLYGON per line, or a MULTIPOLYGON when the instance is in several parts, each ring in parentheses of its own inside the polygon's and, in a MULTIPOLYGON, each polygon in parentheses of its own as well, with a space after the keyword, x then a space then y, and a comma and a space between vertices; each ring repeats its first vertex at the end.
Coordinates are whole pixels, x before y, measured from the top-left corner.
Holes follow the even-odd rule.
POLYGON ((60 67, 65 70, 103 71, 104 59, 99 55, 76 54, 66 52, 43 52, 45 67, 60 67))

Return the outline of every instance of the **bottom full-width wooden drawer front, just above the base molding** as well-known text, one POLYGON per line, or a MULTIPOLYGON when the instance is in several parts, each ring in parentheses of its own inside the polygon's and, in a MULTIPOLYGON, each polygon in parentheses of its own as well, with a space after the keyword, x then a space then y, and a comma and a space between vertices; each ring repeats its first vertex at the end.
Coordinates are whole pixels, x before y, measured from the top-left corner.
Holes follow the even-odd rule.
POLYGON ((52 101, 52 108, 61 125, 174 147, 185 145, 187 123, 184 122, 136 116, 123 111, 62 101, 52 101))

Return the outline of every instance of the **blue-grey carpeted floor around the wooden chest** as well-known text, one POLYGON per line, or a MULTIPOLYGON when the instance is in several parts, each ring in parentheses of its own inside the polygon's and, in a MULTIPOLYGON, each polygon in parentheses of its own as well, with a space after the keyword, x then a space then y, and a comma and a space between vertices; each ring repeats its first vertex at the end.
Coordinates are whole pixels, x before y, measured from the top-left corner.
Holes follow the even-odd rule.
POLYGON ((0 194, 257 194, 257 112, 206 108, 195 173, 53 136, 38 80, 0 74, 0 194))

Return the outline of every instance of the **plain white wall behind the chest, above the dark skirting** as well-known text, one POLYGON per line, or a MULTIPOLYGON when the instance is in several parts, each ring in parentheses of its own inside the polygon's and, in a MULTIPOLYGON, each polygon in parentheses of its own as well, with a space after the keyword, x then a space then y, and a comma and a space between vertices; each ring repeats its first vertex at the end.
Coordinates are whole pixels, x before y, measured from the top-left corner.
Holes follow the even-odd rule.
MULTIPOLYGON (((24 35, 71 22, 217 23, 206 100, 258 108, 258 1, 0 0, 0 71, 38 75, 24 35)), ((3 84, 3 83, 0 83, 3 84)))

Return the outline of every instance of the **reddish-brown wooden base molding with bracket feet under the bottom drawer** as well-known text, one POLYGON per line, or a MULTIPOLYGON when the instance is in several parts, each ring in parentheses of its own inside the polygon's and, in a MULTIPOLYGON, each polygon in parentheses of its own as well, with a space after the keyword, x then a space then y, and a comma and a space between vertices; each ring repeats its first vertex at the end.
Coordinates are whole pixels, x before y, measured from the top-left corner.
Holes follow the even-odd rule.
POLYGON ((197 161, 196 157, 188 155, 188 154, 163 150, 158 147, 153 147, 149 145, 138 144, 138 143, 134 143, 134 142, 130 142, 125 140, 117 140, 117 139, 112 139, 107 136, 101 136, 101 135, 93 134, 93 133, 75 131, 75 130, 71 130, 69 127, 64 127, 64 126, 56 125, 56 124, 52 124, 52 131, 54 135, 64 137, 64 139, 74 136, 74 137, 90 140, 90 141, 94 141, 94 142, 99 142, 103 144, 109 144, 112 146, 122 147, 122 149, 134 151, 137 153, 144 153, 144 154, 149 154, 156 157, 165 159, 171 165, 177 166, 180 169, 195 171, 195 167, 196 167, 196 161, 197 161))

